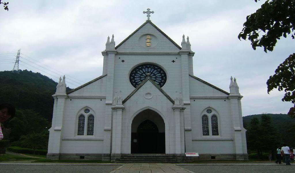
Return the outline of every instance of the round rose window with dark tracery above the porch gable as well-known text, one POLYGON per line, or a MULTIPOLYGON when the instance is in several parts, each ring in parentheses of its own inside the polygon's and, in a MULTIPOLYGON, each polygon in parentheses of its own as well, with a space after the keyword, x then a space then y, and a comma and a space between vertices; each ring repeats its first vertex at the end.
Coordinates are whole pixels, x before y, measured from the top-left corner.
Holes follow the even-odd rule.
POLYGON ((147 73, 150 73, 150 78, 160 87, 163 87, 166 83, 167 75, 161 67, 153 64, 143 64, 131 71, 129 76, 131 85, 136 88, 145 80, 147 73))

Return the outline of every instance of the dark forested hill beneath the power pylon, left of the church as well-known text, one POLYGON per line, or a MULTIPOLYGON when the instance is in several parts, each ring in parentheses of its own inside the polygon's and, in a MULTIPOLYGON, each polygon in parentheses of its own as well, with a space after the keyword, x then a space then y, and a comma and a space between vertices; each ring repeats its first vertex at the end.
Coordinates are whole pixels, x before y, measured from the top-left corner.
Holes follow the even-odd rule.
MULTIPOLYGON (((9 102, 17 109, 33 109, 51 121, 53 97, 57 83, 40 73, 28 70, 0 72, 0 102, 9 102)), ((67 90, 71 90, 67 88, 67 90)))

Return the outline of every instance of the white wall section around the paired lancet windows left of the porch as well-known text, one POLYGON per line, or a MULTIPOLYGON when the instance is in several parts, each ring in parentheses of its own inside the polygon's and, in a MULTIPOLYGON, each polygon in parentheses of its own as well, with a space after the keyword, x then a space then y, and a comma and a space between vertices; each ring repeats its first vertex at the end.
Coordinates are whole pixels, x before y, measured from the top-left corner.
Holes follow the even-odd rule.
POLYGON ((105 99, 68 98, 65 101, 61 153, 102 153, 104 140, 105 99), (77 135, 79 112, 90 108, 94 115, 94 135, 87 135, 87 117, 84 135, 77 135), (85 140, 85 141, 84 141, 85 140))

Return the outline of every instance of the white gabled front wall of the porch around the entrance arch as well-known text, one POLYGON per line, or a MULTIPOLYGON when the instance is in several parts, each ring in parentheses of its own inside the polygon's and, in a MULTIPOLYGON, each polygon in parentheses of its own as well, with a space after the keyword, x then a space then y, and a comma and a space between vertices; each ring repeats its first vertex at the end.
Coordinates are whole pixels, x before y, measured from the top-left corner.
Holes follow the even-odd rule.
POLYGON ((133 118, 145 109, 151 109, 162 116, 165 122, 165 145, 166 154, 175 153, 175 124, 173 116, 173 104, 163 93, 160 92, 150 81, 147 81, 127 102, 124 104, 122 119, 122 153, 130 153, 131 125, 133 118), (150 92, 151 99, 144 98, 144 94, 150 92))

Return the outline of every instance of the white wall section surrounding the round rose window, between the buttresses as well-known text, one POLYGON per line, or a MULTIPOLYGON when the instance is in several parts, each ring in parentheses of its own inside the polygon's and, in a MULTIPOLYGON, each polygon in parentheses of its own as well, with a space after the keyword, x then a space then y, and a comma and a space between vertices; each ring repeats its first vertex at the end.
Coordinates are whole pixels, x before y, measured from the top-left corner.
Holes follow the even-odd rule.
POLYGON ((174 98, 175 91, 181 90, 181 83, 179 82, 181 80, 179 55, 116 55, 114 91, 119 92, 119 90, 122 90, 122 96, 126 98, 135 89, 129 81, 129 74, 134 67, 143 63, 152 63, 165 70, 167 81, 162 89, 174 98), (121 60, 125 60, 125 62, 121 62, 121 60), (171 62, 172 60, 176 62, 173 63, 171 62))

